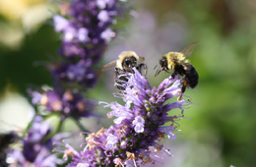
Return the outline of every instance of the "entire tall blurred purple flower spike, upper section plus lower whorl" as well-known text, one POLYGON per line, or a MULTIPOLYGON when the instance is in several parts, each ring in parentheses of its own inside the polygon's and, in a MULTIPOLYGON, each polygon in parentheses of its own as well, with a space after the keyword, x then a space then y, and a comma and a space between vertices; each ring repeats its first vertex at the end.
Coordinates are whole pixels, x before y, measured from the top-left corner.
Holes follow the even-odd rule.
MULTIPOLYGON (((122 16, 125 3, 119 0, 71 0, 63 4, 60 12, 67 19, 60 15, 53 17, 55 31, 60 33, 61 39, 58 50, 61 61, 48 66, 55 79, 54 88, 42 93, 31 92, 32 104, 43 105, 51 112, 61 112, 62 119, 80 119, 92 115, 95 103, 70 87, 85 92, 96 85, 98 74, 95 69, 108 42, 115 37, 116 30, 111 26, 116 24, 115 18, 122 16)), ((126 118, 124 114, 118 117, 117 123, 126 118)))

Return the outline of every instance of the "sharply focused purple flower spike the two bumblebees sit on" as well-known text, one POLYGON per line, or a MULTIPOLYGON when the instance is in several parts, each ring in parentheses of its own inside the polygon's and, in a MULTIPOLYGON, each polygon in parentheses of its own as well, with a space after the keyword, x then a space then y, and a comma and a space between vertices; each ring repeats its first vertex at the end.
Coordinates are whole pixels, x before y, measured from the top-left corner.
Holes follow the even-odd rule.
MULTIPOLYGON (((175 139, 174 134, 183 118, 183 110, 191 104, 188 100, 166 103, 166 100, 180 96, 180 80, 169 77, 153 87, 136 70, 135 74, 128 74, 129 80, 123 93, 116 93, 123 99, 125 105, 117 102, 105 102, 104 107, 111 108, 108 117, 116 117, 114 126, 101 129, 96 134, 86 138, 86 147, 82 152, 75 151, 66 145, 66 155, 71 155, 72 162, 67 167, 89 166, 137 166, 158 161, 160 151, 172 156, 160 140, 166 137, 175 139), (180 108, 181 114, 169 116, 168 111, 180 108), (169 123, 169 124, 167 124, 169 123)), ((84 143, 83 143, 84 144, 84 143)))

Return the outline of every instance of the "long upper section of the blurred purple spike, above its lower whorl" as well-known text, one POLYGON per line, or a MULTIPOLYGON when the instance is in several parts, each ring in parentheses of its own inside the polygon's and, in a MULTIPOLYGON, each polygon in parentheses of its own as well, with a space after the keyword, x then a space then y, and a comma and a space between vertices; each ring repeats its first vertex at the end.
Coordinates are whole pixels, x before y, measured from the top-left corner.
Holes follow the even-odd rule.
POLYGON ((118 0, 73 0, 68 10, 69 20, 60 15, 53 17, 55 30, 62 34, 59 53, 63 58, 52 71, 55 79, 87 87, 96 84, 93 68, 115 36, 109 27, 116 24, 114 18, 121 9, 118 0))

